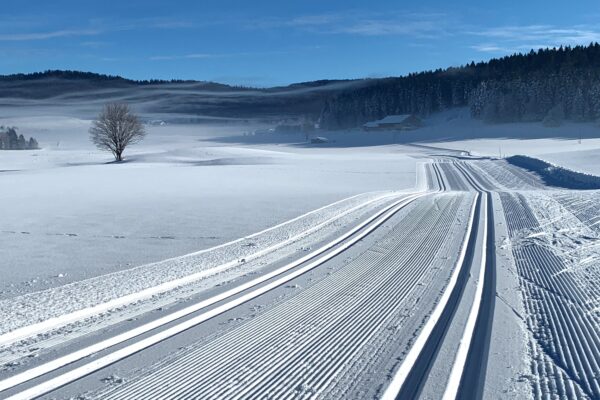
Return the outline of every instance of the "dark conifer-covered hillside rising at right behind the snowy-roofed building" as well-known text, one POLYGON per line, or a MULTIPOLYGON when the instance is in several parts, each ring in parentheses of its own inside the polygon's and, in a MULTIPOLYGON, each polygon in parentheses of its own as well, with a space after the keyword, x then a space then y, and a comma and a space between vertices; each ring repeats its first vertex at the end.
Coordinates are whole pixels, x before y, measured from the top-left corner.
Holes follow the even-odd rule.
POLYGON ((459 68, 373 80, 328 99, 326 129, 355 127, 391 114, 468 106, 489 122, 600 118, 600 45, 542 49, 459 68))

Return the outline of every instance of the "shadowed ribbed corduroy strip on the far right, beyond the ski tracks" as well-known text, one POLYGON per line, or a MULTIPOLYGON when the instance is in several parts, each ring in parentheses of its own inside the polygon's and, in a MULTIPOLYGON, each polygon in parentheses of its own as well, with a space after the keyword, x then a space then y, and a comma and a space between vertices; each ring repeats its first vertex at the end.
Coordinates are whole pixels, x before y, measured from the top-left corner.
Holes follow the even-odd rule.
MULTIPOLYGON (((523 194, 501 196, 511 237, 539 231, 539 223, 523 194)), ((565 269, 564 260, 538 243, 515 246, 517 271, 527 293, 527 325, 532 332, 534 396, 555 393, 565 399, 600 398, 600 333, 590 313, 588 296, 565 269), (538 268, 544 265, 544 268, 538 268), (568 301, 561 297, 565 297, 568 301)))

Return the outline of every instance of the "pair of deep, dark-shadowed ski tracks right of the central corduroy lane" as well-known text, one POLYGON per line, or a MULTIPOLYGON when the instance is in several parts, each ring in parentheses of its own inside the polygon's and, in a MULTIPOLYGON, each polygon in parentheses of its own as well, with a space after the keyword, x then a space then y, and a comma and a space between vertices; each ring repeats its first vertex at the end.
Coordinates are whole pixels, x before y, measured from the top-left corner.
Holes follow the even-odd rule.
POLYGON ((441 165, 444 166, 444 174, 450 180, 451 187, 464 190, 467 189, 464 186, 467 184, 479 193, 476 208, 473 210, 471 222, 473 229, 469 228, 470 233, 468 241, 465 242, 460 265, 456 267, 437 308, 429 316, 427 324, 421 330, 403 364, 396 371, 383 395, 385 400, 413 399, 420 395, 444 337, 453 323, 459 304, 469 301, 463 298, 463 290, 469 275, 472 275, 472 268, 479 269, 479 273, 475 275, 478 276, 475 297, 450 369, 444 399, 477 399, 481 398, 483 391, 495 299, 492 197, 491 193, 471 175, 472 172, 462 165, 462 162, 447 162, 441 165), (462 179, 457 175, 461 175, 462 179), (475 223, 473 220, 479 221, 480 218, 483 228, 482 258, 479 265, 474 265, 473 254, 478 243, 479 222, 475 223))

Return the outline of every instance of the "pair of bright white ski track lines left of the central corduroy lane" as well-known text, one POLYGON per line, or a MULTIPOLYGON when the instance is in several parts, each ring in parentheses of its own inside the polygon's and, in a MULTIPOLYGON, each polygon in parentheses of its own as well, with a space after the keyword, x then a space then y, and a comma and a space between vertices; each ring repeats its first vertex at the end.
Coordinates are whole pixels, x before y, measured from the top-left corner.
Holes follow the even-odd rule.
POLYGON ((51 390, 54 390, 60 386, 63 386, 69 382, 72 382, 76 379, 79 379, 91 372, 97 371, 101 368, 106 367, 107 365, 110 365, 118 360, 121 360, 125 357, 128 357, 142 349, 145 349, 149 346, 152 346, 162 340, 165 340, 171 336, 174 336, 180 332, 183 332, 195 325, 198 325, 210 318, 213 318, 216 315, 219 315, 225 311, 228 311, 242 303, 245 303, 257 296, 260 296, 261 294, 264 294, 266 292, 268 292, 269 290, 272 290, 273 288, 283 285, 284 283, 306 273, 307 271, 317 267, 318 265, 324 263, 325 261, 335 257, 336 255, 338 255, 339 253, 343 252, 344 250, 346 250, 347 248, 349 248, 350 246, 354 245, 356 242, 362 240, 365 236, 367 236, 369 233, 371 233, 373 230, 375 230, 377 227, 379 227, 381 224, 383 224, 385 221, 387 221, 387 219, 389 217, 391 217, 392 215, 394 215, 396 212, 398 212, 400 209, 402 209, 404 206, 406 206, 407 204, 409 204, 410 202, 412 202, 413 200, 424 196, 425 194, 417 194, 417 195, 412 195, 412 196, 408 196, 407 198, 401 199, 396 201, 395 203, 387 206, 386 208, 384 208, 383 210, 380 210, 379 212, 377 212, 375 215, 371 216, 370 218, 368 218, 366 221, 363 221, 361 224, 357 225, 356 227, 354 227, 352 230, 350 230, 349 232, 346 232, 344 235, 342 235, 341 237, 339 237, 338 239, 333 240, 332 242, 324 245, 323 247, 321 247, 320 249, 288 264, 285 265, 275 271, 272 271, 268 274, 265 274, 261 277, 258 277, 250 282, 247 282, 245 284, 242 284, 238 287, 235 287, 233 289, 230 289, 226 292, 220 293, 217 296, 211 297, 209 299, 203 300, 197 304, 194 304, 190 307, 184 308, 182 310, 179 310, 177 312, 174 312, 172 314, 166 315, 162 318, 159 318, 155 321, 149 322, 145 325, 142 325, 140 327, 134 328, 130 331, 121 333, 117 336, 114 336, 110 339, 106 339, 103 340, 101 342, 98 342, 94 345, 88 346, 86 348, 83 348, 81 350, 77 350, 71 354, 68 354, 66 356, 63 357, 59 357, 55 360, 52 360, 50 362, 47 362, 46 364, 42 364, 40 366, 34 367, 30 370, 24 371, 20 374, 17 374, 15 376, 12 376, 10 378, 7 378, 3 381, 0 381, 0 392, 13 388, 17 385, 20 385, 24 382, 27 382, 31 379, 37 378, 39 376, 42 376, 48 372, 51 371, 55 371, 65 365, 68 365, 70 363, 73 363, 75 361, 81 360, 82 358, 85 358, 89 355, 95 354, 99 351, 105 350, 107 348, 110 348, 112 346, 115 346, 119 343, 123 343, 127 340, 130 340, 132 338, 135 338, 136 336, 139 336, 141 334, 144 334, 146 332, 149 332, 153 329, 156 329, 158 327, 161 327, 165 324, 168 324, 172 321, 175 321, 179 318, 182 318, 184 316, 187 316, 191 313, 194 313, 196 311, 201 310, 202 308, 208 307, 212 304, 215 304, 219 301, 222 300, 226 300, 228 297, 232 297, 235 296, 241 292, 243 292, 244 290, 250 289, 253 286, 259 285, 261 283, 264 283, 266 281, 268 281, 269 279, 272 279, 274 277, 276 277, 277 275, 280 275, 294 267, 297 267, 298 265, 306 262, 307 260, 310 260, 311 258, 317 257, 319 256, 321 253, 326 252, 327 250, 331 249, 332 247, 336 246, 337 244, 343 242, 344 240, 348 239, 349 237, 353 236, 355 233, 359 232, 360 230, 362 230, 363 228, 367 227, 366 229, 364 229, 362 232, 358 233, 356 236, 352 237, 350 240, 348 240, 347 242, 343 243, 341 246, 336 247, 333 251, 325 254, 324 256, 318 258, 317 260, 305 265, 302 268, 299 268, 295 271, 293 271, 290 274, 287 274, 283 277, 280 277, 278 279, 275 279, 274 281, 261 286, 259 288, 254 289, 253 291, 246 293, 238 298, 232 299, 229 302, 222 304, 218 307, 215 307, 212 310, 206 311, 194 318, 191 318, 187 321, 183 321, 169 329, 166 329, 162 332, 156 333, 146 339, 142 339, 136 343, 133 343, 131 345, 128 345, 120 350, 117 350, 113 353, 110 353, 104 357, 101 357, 97 360, 91 361, 81 367, 77 367, 75 369, 73 369, 72 371, 66 372, 62 375, 59 375, 55 378, 52 378, 46 382, 43 382, 39 385, 36 385, 30 389, 27 389, 23 392, 20 392, 12 397, 9 397, 9 399, 30 399, 36 396, 40 396, 44 393, 48 393, 51 390), (379 218, 379 219, 378 219, 379 218), (378 220, 377 220, 378 219, 378 220), (377 220, 375 223, 371 224, 369 226, 369 224, 373 221, 377 220))

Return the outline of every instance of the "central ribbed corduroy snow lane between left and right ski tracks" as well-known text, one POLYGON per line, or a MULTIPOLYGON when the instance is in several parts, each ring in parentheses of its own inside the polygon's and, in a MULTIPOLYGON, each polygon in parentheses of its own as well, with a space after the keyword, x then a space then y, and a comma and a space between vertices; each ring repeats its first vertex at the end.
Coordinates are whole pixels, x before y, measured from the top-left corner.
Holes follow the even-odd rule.
POLYGON ((301 298, 293 302, 296 308, 288 310, 292 305, 286 305, 278 310, 277 317, 265 315, 244 326, 245 334, 235 332, 176 361, 176 367, 170 365, 162 373, 103 397, 238 399, 268 393, 272 398, 288 398, 299 394, 302 388, 318 395, 335 380, 346 362, 379 333, 386 321, 396 316, 402 300, 430 265, 435 255, 432 250, 445 240, 457 206, 456 200, 447 205, 434 223, 427 222, 431 216, 426 215, 420 222, 426 224, 427 229, 407 232, 412 235, 406 235, 396 246, 399 251, 383 258, 359 259, 355 267, 345 266, 344 271, 354 268, 360 271, 352 276, 353 280, 340 281, 341 277, 336 274, 318 288, 300 295, 301 298), (336 283, 343 286, 341 290, 335 287, 336 283), (331 296, 330 292, 336 294, 331 296), (315 312, 312 308, 315 304, 325 308, 315 312), (296 328, 315 327, 301 335, 308 340, 298 343, 289 341, 289 327, 285 323, 295 312, 303 314, 300 321, 295 321, 296 328), (267 344, 268 338, 272 338, 270 344, 267 344), (223 354, 223 348, 233 350, 223 354), (184 371, 187 371, 186 380, 178 380, 176 387, 165 389, 160 385, 160 382, 176 379, 184 371))

